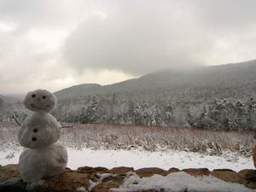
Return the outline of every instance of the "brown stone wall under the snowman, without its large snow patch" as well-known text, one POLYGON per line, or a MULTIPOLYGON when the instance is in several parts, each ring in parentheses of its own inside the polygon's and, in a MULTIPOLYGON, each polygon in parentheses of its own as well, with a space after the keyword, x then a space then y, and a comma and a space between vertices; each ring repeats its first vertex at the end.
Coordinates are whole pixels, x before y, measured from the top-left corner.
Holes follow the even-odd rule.
MULTIPOLYGON (((135 172, 139 177, 151 177, 154 174, 166 176, 175 172, 186 172, 193 177, 213 176, 218 177, 225 182, 240 183, 250 189, 256 189, 256 171, 242 170, 234 172, 228 169, 213 170, 210 172, 207 168, 162 170, 151 167, 134 170, 132 167, 115 167, 108 170, 104 167, 80 167, 72 171, 66 168, 65 172, 59 176, 45 178, 44 183, 34 187, 33 192, 105 192, 108 189, 119 188, 124 182, 128 172, 135 172)), ((23 183, 19 177, 17 165, 0 166, 0 192, 20 191, 26 192, 26 183, 23 183)), ((154 191, 152 190, 147 190, 154 191)))

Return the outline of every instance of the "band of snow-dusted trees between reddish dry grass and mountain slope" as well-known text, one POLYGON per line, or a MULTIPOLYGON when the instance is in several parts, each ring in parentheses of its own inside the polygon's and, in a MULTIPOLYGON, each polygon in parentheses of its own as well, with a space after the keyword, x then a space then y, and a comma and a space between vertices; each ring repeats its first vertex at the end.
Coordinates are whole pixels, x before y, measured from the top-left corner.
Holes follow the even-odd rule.
MULTIPOLYGON (((22 103, 0 102, 0 122, 22 122, 29 110, 22 103)), ((115 96, 90 96, 86 101, 60 102, 53 112, 68 123, 109 123, 168 127, 197 127, 207 130, 252 131, 256 127, 256 100, 214 99, 212 102, 117 101, 115 96)))

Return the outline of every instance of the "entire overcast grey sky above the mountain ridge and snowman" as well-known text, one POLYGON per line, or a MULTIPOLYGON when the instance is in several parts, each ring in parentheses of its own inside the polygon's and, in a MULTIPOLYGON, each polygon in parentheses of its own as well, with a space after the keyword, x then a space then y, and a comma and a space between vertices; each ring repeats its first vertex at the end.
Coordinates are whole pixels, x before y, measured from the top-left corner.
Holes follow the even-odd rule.
POLYGON ((256 58, 255 0, 0 0, 0 95, 256 58))

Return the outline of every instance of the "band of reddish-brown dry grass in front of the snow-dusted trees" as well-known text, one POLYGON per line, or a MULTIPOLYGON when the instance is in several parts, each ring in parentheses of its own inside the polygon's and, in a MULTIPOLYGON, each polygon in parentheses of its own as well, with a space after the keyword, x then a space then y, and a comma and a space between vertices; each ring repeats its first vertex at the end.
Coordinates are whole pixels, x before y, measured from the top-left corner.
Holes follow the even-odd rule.
MULTIPOLYGON (((0 124, 0 150, 18 148, 15 124, 0 124)), ((76 124, 62 129, 61 143, 71 148, 188 150, 222 154, 223 150, 250 156, 255 144, 253 132, 205 131, 199 129, 146 127, 135 125, 76 124)))

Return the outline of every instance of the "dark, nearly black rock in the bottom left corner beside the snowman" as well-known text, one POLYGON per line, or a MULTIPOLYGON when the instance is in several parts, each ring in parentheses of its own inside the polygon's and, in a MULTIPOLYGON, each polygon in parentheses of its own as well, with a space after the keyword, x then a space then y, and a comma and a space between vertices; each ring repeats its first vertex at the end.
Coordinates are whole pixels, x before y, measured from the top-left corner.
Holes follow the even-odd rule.
POLYGON ((26 183, 20 177, 12 177, 4 183, 0 183, 0 192, 28 192, 26 183))

